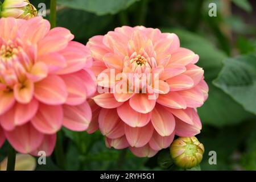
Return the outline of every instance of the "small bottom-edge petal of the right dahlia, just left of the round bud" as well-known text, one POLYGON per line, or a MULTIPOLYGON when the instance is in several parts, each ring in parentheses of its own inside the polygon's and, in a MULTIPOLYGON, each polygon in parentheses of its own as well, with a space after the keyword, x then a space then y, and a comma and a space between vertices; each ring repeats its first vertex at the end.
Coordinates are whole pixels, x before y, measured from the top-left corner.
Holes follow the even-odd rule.
POLYGON ((172 141, 174 140, 174 134, 175 132, 173 132, 169 136, 162 137, 156 131, 154 131, 152 138, 150 139, 150 142, 148 144, 153 150, 162 150, 163 148, 167 148, 171 145, 172 141))

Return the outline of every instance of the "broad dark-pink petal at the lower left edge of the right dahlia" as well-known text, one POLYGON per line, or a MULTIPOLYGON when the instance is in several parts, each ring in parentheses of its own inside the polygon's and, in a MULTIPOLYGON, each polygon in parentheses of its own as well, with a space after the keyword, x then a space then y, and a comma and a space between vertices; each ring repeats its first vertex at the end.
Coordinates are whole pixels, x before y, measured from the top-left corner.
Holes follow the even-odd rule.
POLYGON ((101 133, 108 138, 119 138, 125 134, 123 122, 116 109, 101 109, 98 123, 101 133))

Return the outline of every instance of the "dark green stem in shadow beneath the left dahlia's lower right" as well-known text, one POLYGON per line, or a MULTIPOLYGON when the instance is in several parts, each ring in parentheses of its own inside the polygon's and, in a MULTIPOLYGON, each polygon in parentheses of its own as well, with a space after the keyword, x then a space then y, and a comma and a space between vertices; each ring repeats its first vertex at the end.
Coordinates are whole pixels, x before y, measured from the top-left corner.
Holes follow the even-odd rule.
POLYGON ((57 133, 57 141, 55 146, 55 158, 56 158, 57 166, 61 169, 65 169, 65 156, 63 152, 61 131, 57 133))

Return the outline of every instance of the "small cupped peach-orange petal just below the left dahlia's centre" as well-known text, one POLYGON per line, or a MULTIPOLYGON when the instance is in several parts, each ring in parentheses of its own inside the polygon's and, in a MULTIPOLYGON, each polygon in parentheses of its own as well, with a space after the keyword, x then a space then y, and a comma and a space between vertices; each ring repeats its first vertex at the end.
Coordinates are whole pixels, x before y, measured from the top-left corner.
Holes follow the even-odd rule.
POLYGON ((27 104, 32 100, 34 94, 34 83, 31 80, 26 80, 23 84, 14 86, 14 97, 16 101, 27 104))

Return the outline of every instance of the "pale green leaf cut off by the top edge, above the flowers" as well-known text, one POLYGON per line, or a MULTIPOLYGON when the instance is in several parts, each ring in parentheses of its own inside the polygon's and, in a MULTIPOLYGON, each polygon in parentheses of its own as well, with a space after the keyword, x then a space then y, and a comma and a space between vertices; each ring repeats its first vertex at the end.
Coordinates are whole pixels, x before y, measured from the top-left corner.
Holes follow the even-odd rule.
POLYGON ((59 0, 59 5, 97 15, 116 14, 139 0, 59 0))

